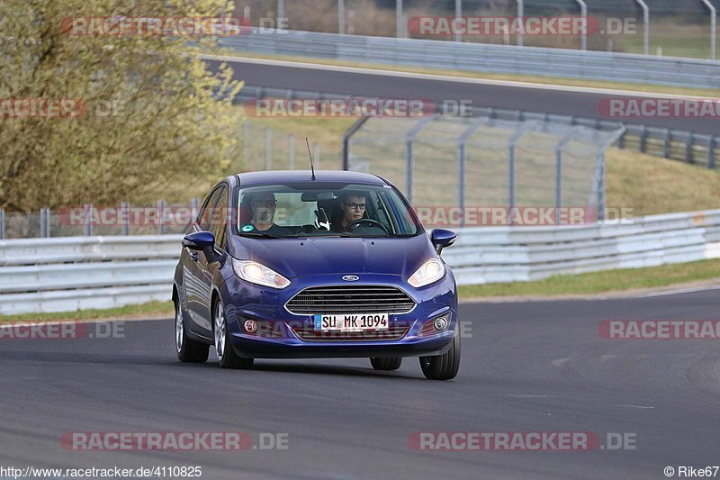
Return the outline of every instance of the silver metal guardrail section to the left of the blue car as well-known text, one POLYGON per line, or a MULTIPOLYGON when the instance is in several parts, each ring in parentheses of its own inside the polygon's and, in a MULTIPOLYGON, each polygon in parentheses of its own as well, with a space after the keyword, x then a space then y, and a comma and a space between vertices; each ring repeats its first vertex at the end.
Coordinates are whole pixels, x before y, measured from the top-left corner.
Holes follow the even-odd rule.
POLYGON ((182 235, 0 241, 0 314, 113 308, 170 297, 182 235))

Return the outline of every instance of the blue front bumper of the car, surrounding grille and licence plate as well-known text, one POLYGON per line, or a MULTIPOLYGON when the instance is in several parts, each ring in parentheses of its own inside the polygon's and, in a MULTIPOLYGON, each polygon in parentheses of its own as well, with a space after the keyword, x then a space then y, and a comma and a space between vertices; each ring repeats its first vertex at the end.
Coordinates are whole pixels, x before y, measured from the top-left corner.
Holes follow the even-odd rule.
MULTIPOLYGON (((222 292, 230 341, 243 358, 359 358, 417 357, 442 355, 453 341, 457 328, 457 297, 452 273, 432 285, 413 288, 400 276, 362 275, 362 285, 394 285, 404 290, 416 306, 407 313, 390 313, 389 328, 396 333, 374 338, 349 339, 331 336, 312 339, 311 315, 298 315, 285 307, 295 294, 310 286, 347 285, 338 275, 305 276, 293 279, 293 285, 276 290, 250 284, 237 277, 226 281, 222 292), (232 292, 232 294, 230 294, 232 292), (421 333, 428 320, 446 315, 445 331, 421 333), (256 320, 261 328, 254 334, 242 330, 246 320, 256 320), (302 332, 310 333, 303 335, 302 332), (398 334, 401 333, 401 334, 398 334)), ((362 313, 362 312, 358 312, 362 313)), ((369 334, 373 336, 373 334, 369 334)))

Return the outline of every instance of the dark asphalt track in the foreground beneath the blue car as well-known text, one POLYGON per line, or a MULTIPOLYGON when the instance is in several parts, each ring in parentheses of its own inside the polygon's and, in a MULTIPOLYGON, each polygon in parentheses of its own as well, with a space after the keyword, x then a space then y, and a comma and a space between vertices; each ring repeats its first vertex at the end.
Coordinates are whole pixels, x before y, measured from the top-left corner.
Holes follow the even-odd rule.
POLYGON ((720 464, 718 340, 604 340, 602 320, 717 319, 717 291, 464 303, 453 381, 366 359, 181 364, 171 320, 0 340, 0 466, 202 466, 202 478, 665 478, 720 464), (287 432, 284 450, 73 451, 70 431, 287 432), (635 433, 635 449, 418 451, 418 431, 635 433))

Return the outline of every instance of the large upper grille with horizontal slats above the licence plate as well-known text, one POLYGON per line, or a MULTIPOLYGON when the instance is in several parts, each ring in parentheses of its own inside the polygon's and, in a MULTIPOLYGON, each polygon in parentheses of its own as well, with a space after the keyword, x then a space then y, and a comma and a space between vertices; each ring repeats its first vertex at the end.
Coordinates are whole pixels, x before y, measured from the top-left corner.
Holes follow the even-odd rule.
POLYGON ((287 309, 296 315, 341 313, 407 313, 415 302, 388 285, 311 286, 293 296, 287 309))

